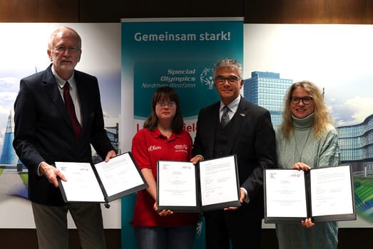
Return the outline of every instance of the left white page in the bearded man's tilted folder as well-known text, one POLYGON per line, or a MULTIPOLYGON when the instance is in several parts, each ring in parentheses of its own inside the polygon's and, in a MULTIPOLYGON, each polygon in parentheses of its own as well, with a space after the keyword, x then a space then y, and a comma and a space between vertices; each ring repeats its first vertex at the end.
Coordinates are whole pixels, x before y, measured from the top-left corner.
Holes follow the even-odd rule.
POLYGON ((61 181, 68 201, 104 202, 102 190, 90 163, 56 162, 56 168, 66 177, 61 181))

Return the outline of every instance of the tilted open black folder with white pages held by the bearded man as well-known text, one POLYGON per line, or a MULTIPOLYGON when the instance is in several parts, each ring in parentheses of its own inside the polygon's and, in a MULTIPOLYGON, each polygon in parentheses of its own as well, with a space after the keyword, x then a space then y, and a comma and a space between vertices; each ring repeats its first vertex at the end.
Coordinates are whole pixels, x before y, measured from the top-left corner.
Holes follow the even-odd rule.
POLYGON ((56 162, 67 178, 58 179, 63 200, 70 202, 108 203, 148 188, 131 152, 111 158, 107 163, 56 162))

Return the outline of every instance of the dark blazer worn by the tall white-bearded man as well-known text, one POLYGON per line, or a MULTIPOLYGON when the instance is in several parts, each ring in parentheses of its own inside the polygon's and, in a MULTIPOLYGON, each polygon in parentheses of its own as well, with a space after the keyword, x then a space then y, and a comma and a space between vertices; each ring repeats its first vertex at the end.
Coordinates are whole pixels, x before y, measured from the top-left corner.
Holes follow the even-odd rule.
POLYGON ((51 66, 21 79, 14 103, 14 142, 19 159, 29 170, 29 199, 45 205, 63 205, 61 192, 37 175, 41 161, 91 162, 91 144, 105 158, 113 150, 103 126, 97 78, 75 71, 81 102, 82 130, 76 143, 73 126, 58 91, 51 66))

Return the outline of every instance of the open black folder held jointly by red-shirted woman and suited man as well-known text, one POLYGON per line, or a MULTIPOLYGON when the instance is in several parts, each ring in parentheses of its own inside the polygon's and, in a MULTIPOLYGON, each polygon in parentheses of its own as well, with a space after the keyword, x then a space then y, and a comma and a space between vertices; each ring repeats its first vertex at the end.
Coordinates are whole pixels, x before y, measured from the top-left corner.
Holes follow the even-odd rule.
POLYGON ((158 210, 193 213, 240 206, 237 158, 158 161, 158 210))

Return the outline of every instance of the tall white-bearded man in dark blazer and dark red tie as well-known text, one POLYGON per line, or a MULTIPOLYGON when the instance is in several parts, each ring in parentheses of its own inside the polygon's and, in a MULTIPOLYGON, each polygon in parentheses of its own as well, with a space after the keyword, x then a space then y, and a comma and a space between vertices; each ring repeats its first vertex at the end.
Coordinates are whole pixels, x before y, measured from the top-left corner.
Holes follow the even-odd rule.
POLYGON ((21 79, 14 104, 14 142, 29 170, 29 200, 39 248, 68 248, 67 212, 78 228, 81 248, 106 248, 99 203, 64 203, 53 164, 92 162, 91 145, 108 161, 116 156, 103 126, 97 78, 74 68, 81 58, 81 37, 57 29, 47 50, 45 71, 21 79))

